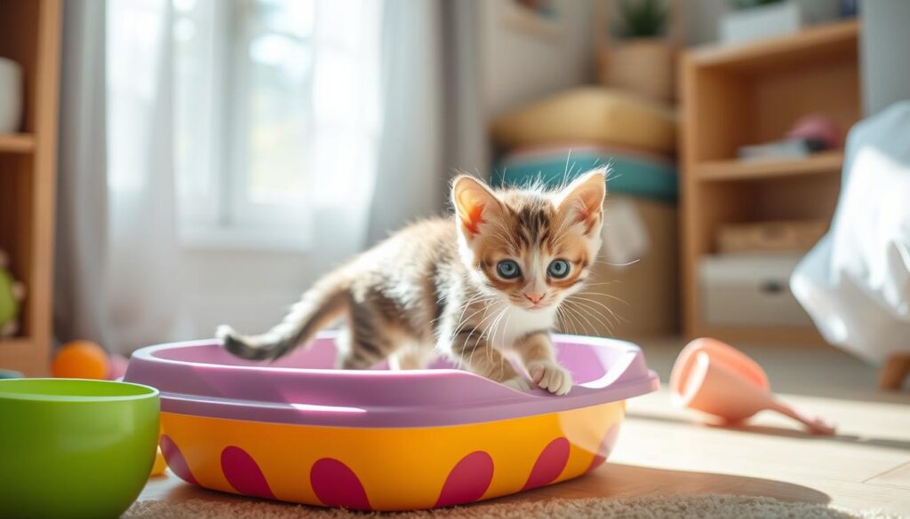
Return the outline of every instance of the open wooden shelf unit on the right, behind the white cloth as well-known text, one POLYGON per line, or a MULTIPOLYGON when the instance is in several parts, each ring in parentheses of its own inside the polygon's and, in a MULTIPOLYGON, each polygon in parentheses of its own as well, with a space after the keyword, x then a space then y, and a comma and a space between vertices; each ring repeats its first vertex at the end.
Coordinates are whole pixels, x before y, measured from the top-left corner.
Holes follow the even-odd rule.
POLYGON ((737 149, 778 140, 803 115, 844 132, 861 115, 857 21, 743 45, 696 48, 681 58, 682 315, 690 337, 821 343, 814 328, 711 325, 702 317, 698 264, 722 225, 830 219, 842 151, 804 159, 740 161, 737 149))

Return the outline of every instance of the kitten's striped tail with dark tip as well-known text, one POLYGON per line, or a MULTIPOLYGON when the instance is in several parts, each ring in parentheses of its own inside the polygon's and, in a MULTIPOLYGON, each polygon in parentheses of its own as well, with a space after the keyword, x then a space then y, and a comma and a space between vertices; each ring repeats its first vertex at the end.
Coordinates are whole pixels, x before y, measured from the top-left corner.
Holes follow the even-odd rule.
POLYGON ((306 344, 320 329, 339 318, 348 308, 347 276, 329 274, 305 292, 281 323, 265 334, 240 335, 227 324, 218 326, 216 336, 225 349, 250 360, 276 359, 300 344, 306 344))

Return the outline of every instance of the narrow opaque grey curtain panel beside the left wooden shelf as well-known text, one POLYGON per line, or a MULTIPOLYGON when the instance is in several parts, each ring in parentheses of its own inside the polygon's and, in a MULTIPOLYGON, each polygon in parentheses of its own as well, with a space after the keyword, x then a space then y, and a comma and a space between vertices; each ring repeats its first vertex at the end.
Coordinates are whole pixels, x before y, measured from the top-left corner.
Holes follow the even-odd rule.
POLYGON ((106 342, 107 185, 105 9, 64 5, 60 89, 55 328, 59 337, 106 342))

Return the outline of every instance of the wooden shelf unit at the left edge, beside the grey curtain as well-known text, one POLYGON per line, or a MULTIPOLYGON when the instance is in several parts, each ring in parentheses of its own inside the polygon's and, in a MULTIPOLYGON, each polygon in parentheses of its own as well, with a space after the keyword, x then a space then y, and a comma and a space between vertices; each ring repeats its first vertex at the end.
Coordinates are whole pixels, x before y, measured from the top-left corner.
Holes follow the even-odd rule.
POLYGON ((0 368, 47 373, 56 207, 60 0, 0 0, 0 56, 22 65, 22 133, 0 135, 0 248, 25 283, 15 337, 0 339, 0 368))

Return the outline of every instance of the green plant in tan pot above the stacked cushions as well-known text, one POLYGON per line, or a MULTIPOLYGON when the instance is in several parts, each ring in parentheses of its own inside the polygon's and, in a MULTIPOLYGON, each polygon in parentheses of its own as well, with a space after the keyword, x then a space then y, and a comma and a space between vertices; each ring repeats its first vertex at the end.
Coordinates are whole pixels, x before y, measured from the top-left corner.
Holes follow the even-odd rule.
POLYGON ((598 53, 601 83, 672 100, 675 45, 667 35, 667 1, 620 0, 617 14, 615 39, 602 38, 598 53))

